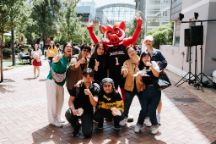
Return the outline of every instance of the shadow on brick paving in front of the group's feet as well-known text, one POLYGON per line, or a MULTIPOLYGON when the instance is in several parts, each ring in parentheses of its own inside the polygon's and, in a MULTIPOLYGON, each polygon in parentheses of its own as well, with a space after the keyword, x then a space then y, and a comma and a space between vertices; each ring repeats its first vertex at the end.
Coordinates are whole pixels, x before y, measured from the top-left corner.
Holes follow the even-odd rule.
POLYGON ((166 144, 163 141, 156 140, 153 135, 148 132, 135 134, 133 127, 122 128, 120 132, 113 130, 111 125, 105 125, 103 131, 94 130, 92 138, 85 139, 82 136, 73 137, 73 129, 69 124, 63 128, 56 128, 54 126, 45 126, 32 133, 33 143, 55 143, 55 144, 143 144, 155 143, 166 144))

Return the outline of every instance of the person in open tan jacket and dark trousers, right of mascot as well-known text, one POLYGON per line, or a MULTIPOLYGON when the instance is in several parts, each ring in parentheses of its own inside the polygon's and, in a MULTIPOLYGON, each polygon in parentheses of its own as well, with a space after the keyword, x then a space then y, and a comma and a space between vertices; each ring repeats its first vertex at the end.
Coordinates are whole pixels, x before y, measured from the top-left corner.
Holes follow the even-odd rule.
POLYGON ((141 101, 141 93, 144 90, 144 84, 142 83, 141 77, 137 75, 139 72, 138 63, 140 58, 133 46, 128 47, 127 54, 129 59, 124 62, 121 69, 121 73, 125 78, 124 119, 120 122, 121 126, 124 126, 128 121, 128 113, 134 96, 137 95, 139 101, 141 101))

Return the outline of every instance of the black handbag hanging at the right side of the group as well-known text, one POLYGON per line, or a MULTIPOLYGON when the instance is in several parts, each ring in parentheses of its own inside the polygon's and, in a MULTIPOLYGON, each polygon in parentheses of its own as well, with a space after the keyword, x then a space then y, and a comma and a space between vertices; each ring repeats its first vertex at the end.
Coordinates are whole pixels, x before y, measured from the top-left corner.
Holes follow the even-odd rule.
POLYGON ((157 86, 161 90, 166 89, 169 86, 171 86, 171 82, 169 80, 169 77, 167 76, 167 74, 164 71, 162 71, 159 75, 157 86))

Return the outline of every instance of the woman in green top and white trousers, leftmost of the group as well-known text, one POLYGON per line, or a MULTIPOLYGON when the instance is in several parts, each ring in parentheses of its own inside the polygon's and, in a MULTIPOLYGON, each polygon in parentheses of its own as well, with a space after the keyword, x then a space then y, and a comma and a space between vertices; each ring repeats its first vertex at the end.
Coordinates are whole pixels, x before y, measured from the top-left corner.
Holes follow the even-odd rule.
POLYGON ((72 45, 66 43, 63 48, 63 55, 56 56, 51 64, 47 76, 47 108, 48 121, 56 127, 62 127, 61 111, 64 103, 64 88, 66 71, 72 56, 72 45))

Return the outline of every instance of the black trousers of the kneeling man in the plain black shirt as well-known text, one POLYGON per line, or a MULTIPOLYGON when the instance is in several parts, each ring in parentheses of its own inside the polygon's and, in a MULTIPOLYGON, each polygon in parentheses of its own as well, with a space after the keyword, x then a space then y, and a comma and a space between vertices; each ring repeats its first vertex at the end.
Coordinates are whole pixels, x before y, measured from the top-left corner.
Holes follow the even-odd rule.
POLYGON ((93 130, 93 112, 85 112, 82 116, 78 117, 73 115, 70 109, 65 113, 65 117, 71 126, 75 129, 79 127, 79 119, 81 119, 82 133, 85 137, 90 137, 93 130))

